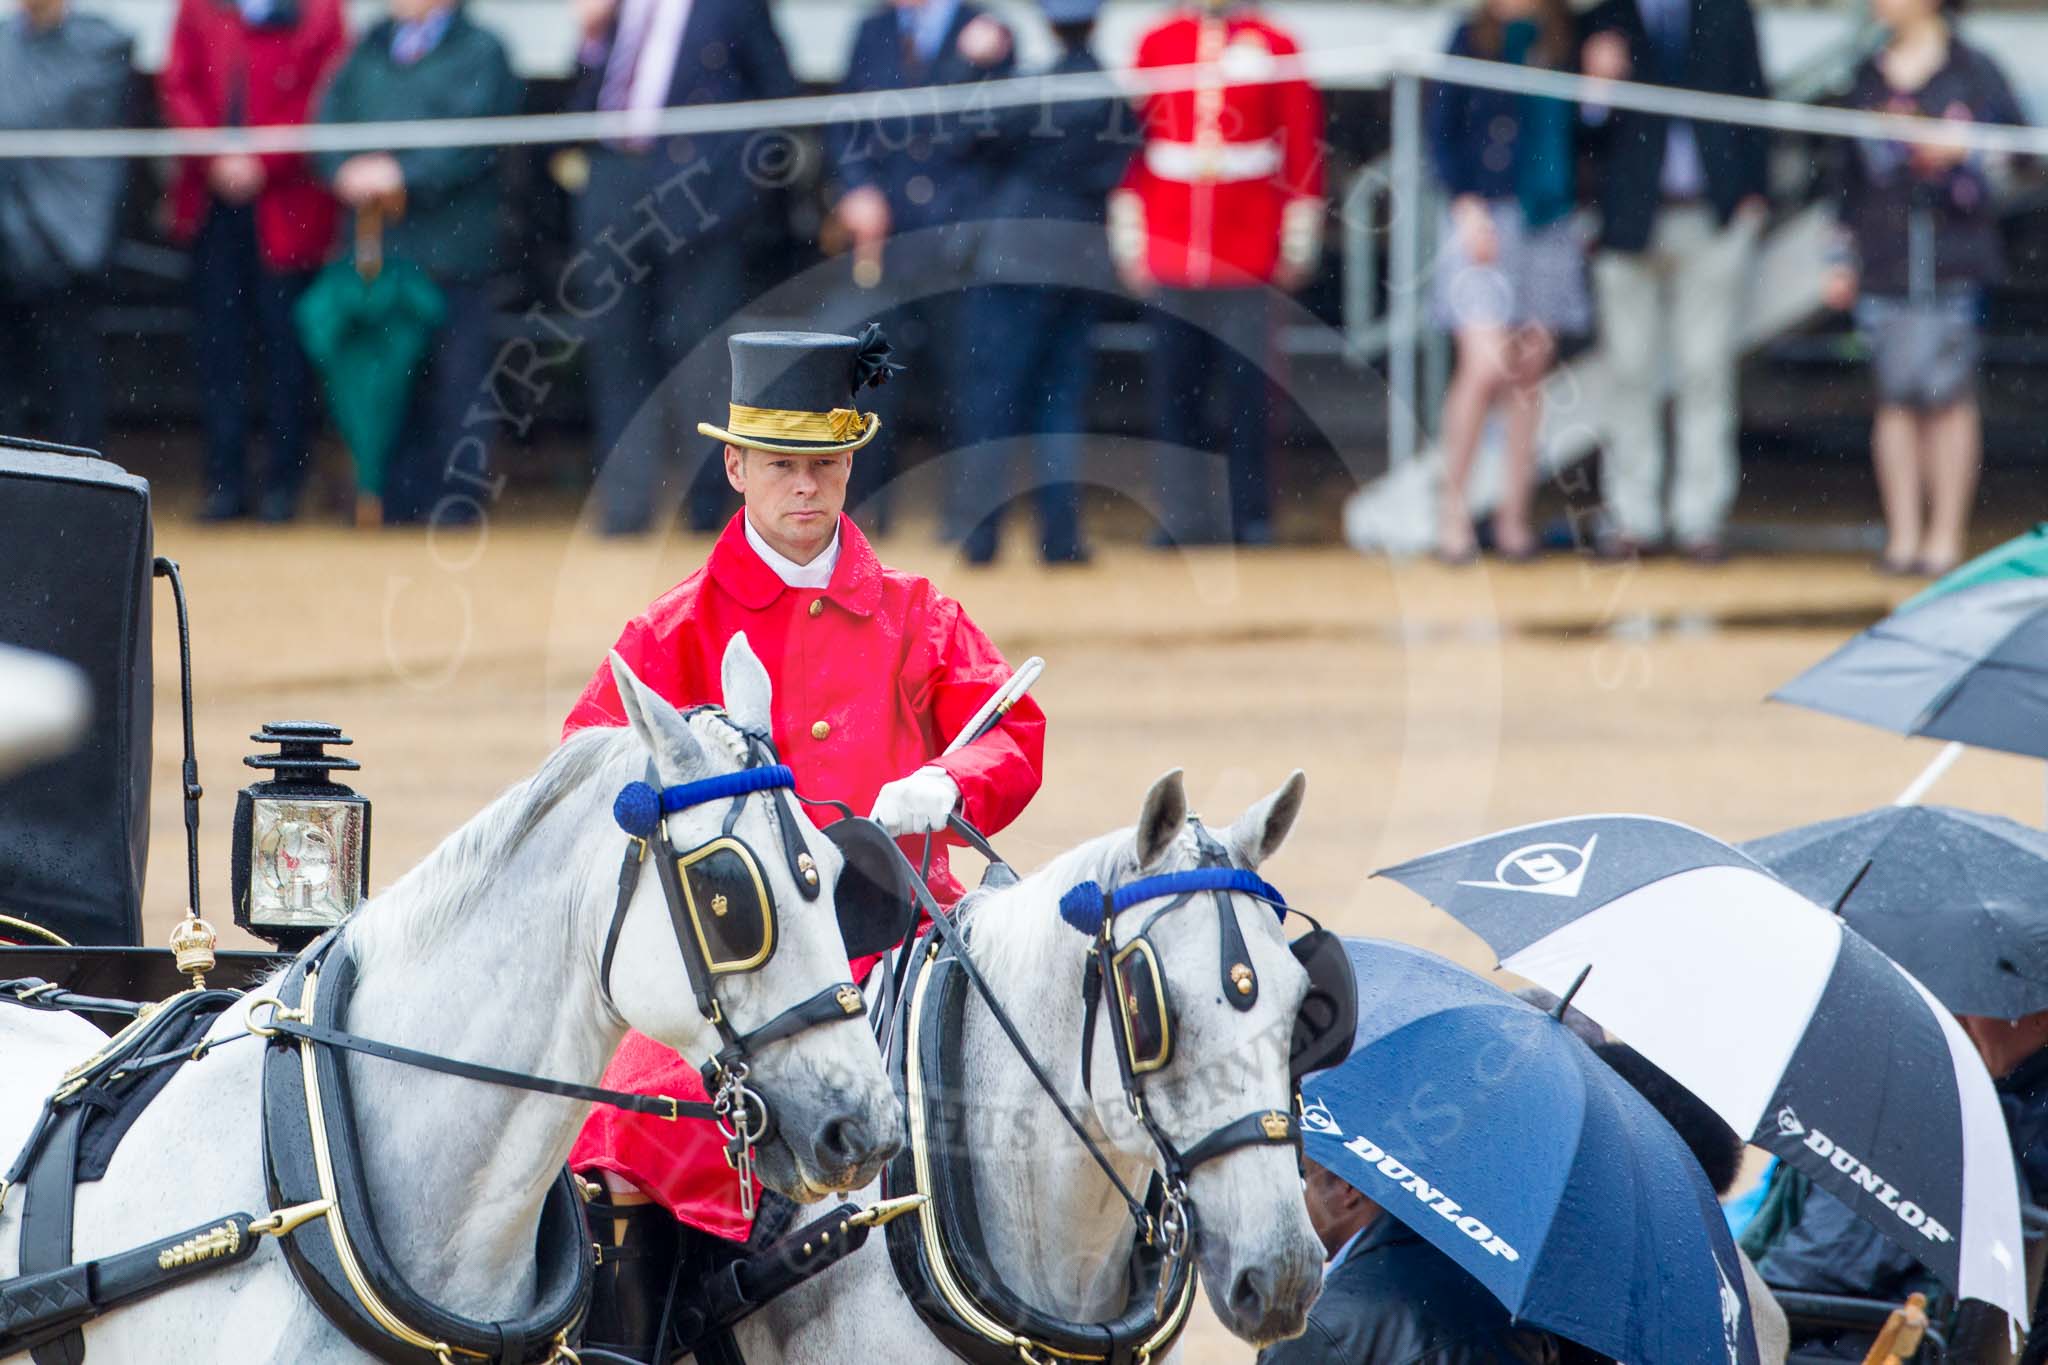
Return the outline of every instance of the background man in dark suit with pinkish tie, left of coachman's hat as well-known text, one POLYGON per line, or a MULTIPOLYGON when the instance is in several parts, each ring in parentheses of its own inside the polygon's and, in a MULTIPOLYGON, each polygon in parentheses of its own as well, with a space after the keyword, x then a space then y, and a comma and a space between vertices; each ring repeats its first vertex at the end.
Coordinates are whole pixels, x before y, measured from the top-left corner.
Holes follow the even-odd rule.
MULTIPOLYGON (((647 119, 678 104, 731 104, 797 94, 788 53, 764 0, 575 0, 582 27, 571 108, 647 119)), ((623 289, 578 284, 604 307, 584 319, 584 375, 596 426, 602 528, 641 534, 674 450, 692 450, 694 530, 725 522, 719 446, 692 434, 678 403, 655 422, 635 415, 700 344, 729 332, 748 303, 745 229, 764 211, 760 147, 780 133, 625 137, 588 151, 575 199, 575 239, 623 289), (756 149, 750 158, 750 149, 756 149)), ((782 147, 786 151, 786 147, 782 147)), ((725 354, 705 352, 713 364, 725 354)), ((680 395, 678 395, 680 397, 680 395)))

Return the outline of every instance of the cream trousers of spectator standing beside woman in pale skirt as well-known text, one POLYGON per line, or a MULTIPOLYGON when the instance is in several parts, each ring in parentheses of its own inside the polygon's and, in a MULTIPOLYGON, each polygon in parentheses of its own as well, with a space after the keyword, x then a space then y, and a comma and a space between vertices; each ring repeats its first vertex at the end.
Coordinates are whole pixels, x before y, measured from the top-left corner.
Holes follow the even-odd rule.
POLYGON ((1681 546, 1718 540, 1735 503, 1735 362, 1757 223, 1726 227, 1706 205, 1657 215, 1649 250, 1602 252, 1593 264, 1608 395, 1599 483, 1614 530, 1681 546), (1675 379, 1671 516, 1659 401, 1669 356, 1675 379))

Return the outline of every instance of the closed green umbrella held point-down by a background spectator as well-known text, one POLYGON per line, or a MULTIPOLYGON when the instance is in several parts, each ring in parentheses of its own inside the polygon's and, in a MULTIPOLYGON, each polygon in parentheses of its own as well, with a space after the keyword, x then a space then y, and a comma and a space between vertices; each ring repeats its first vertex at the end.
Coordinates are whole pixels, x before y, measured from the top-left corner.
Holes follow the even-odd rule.
POLYGON ((383 497, 412 377, 449 309, 420 266, 383 260, 375 239, 362 239, 375 231, 358 231, 356 260, 336 260, 307 284, 295 321, 356 463, 356 487, 383 497))

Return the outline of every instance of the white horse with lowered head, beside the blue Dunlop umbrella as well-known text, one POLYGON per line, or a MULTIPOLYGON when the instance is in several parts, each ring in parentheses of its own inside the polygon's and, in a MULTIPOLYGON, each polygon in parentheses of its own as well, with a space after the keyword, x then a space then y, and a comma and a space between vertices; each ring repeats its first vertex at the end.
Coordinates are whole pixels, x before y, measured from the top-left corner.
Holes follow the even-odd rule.
MULTIPOLYGON (((1257 868, 1280 847, 1305 786, 1296 772, 1223 833, 1233 864, 1257 868)), ((1061 921, 1057 905, 1079 882, 1108 888, 1196 862, 1182 776, 1171 772, 1145 796, 1137 829, 1083 843, 1016 886, 963 902, 969 950, 1004 1011, 1104 1144, 1124 1185, 1141 1193, 1157 1169, 1157 1150, 1124 1105, 1110 1050, 1114 1015, 1098 1019, 1094 1095, 1081 1089, 1090 939, 1061 921)), ((1171 1001, 1174 1050, 1165 1070, 1145 1076, 1145 1101, 1180 1148, 1247 1111, 1292 1109, 1288 1038, 1309 978, 1266 905, 1237 894, 1229 902, 1260 982, 1249 1011, 1223 1001, 1214 911, 1188 907, 1151 929, 1171 1001)), ((1124 913, 1118 943, 1143 919, 1141 909, 1124 913)), ((993 1269, 1022 1302, 1069 1322, 1122 1314, 1133 1220, 973 993, 963 1070, 973 1091, 956 1103, 973 1119, 977 1207, 993 1269)), ((1294 1148, 1239 1148, 1198 1166, 1188 1189, 1198 1216, 1196 1265, 1223 1324, 1253 1345, 1298 1334, 1321 1289, 1323 1246, 1303 1203, 1294 1148)), ((860 1201, 877 1195, 879 1187, 868 1189, 860 1201)), ((897 1285, 881 1232, 743 1320, 735 1338, 754 1365, 954 1359, 897 1285)))

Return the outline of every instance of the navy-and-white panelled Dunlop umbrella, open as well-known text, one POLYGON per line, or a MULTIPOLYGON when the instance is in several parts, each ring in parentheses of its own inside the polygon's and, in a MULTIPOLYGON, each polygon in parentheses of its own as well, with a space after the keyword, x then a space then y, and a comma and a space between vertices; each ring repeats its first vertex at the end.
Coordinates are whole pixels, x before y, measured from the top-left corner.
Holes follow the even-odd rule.
MULTIPOLYGON (((1919 1259, 2025 1322, 2019 1185, 1991 1074, 1839 917, 1698 829, 1526 825, 1389 868, 1919 1259)), ((1364 993, 1362 993, 1364 995, 1364 993)))

